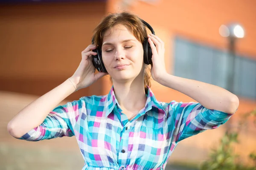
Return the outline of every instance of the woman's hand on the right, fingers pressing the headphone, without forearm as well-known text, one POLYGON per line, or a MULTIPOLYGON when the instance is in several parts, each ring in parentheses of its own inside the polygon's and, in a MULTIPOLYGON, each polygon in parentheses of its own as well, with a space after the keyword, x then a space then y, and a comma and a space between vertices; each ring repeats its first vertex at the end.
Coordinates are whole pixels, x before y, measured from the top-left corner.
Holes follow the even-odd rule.
POLYGON ((148 35, 148 42, 152 50, 152 65, 151 65, 151 76, 152 78, 160 83, 161 77, 163 77, 166 72, 165 62, 164 62, 164 42, 154 34, 148 35))

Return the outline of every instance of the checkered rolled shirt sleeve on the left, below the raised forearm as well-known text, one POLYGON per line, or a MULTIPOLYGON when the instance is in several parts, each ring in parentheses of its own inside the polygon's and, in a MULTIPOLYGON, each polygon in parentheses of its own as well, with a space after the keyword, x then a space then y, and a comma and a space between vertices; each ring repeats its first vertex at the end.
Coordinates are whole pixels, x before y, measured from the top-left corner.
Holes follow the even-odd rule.
POLYGON ((27 141, 39 141, 63 136, 74 136, 73 127, 82 107, 82 101, 68 102, 54 108, 38 127, 20 137, 27 141))

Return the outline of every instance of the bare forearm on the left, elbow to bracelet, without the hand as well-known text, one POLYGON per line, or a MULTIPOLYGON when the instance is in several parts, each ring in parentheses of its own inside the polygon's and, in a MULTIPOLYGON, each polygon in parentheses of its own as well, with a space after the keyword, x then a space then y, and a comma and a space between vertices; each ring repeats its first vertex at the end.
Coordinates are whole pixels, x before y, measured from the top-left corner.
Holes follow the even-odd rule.
POLYGON ((40 125, 49 112, 74 91, 76 89, 67 79, 61 85, 39 97, 23 108, 8 123, 7 129, 9 133, 15 138, 20 138, 32 128, 40 125))

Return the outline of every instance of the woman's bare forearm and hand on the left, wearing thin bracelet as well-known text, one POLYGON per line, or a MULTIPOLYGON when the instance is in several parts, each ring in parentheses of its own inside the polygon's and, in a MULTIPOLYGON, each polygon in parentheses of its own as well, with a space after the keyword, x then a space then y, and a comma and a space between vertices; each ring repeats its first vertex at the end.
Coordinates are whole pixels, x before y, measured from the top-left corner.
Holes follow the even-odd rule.
MULTIPOLYGON (((76 69, 73 76, 70 77, 70 80, 78 90, 90 86, 97 79, 106 75, 106 73, 95 74, 95 68, 89 57, 90 55, 97 54, 91 51, 95 48, 96 45, 88 45, 87 48, 82 51, 82 59, 79 67, 76 69)), ((20 138, 29 132, 29 130, 39 126, 56 105, 76 90, 70 80, 67 79, 61 85, 58 85, 47 94, 44 94, 23 108, 8 123, 7 129, 9 133, 15 138, 20 138)))

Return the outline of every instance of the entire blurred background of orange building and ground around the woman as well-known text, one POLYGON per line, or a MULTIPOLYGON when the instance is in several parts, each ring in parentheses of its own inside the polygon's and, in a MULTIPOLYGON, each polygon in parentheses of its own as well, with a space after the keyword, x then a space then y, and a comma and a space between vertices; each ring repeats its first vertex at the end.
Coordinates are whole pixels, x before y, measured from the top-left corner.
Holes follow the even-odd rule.
MULTIPOLYGON (((181 141, 166 170, 255 169, 255 9, 255 0, 0 0, 0 169, 81 170, 75 137, 27 142, 10 136, 7 124, 72 76, 102 17, 123 10, 165 42, 169 74, 218 85, 240 100, 225 125, 181 141)), ((159 101, 194 101, 151 83, 159 101)), ((110 88, 104 77, 60 104, 110 88)))

